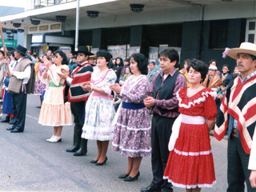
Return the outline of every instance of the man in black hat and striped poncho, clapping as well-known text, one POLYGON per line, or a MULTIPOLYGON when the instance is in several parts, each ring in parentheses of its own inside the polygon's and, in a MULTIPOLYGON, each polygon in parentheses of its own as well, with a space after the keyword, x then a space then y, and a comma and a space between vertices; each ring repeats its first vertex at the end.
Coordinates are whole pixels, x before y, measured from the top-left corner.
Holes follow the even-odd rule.
POLYGON ((87 153, 87 139, 81 138, 82 126, 84 123, 86 100, 89 98, 89 91, 82 90, 83 82, 90 82, 93 67, 87 61, 90 55, 86 46, 79 46, 78 51, 72 54, 77 55, 78 65, 72 71, 71 77, 66 71, 60 75, 66 79, 66 84, 70 86, 68 92, 68 101, 71 105, 71 112, 74 115, 74 146, 67 149, 66 152, 75 152, 74 156, 82 156, 87 153))

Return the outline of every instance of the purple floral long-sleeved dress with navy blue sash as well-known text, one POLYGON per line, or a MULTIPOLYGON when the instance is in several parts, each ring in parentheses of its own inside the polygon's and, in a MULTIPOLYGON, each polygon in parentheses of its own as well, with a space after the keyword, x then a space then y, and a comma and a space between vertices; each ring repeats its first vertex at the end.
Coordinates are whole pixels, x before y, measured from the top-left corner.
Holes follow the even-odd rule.
POLYGON ((122 86, 122 108, 114 126, 112 149, 126 157, 138 158, 151 154, 150 113, 143 104, 149 94, 146 75, 133 80, 127 78, 122 86))

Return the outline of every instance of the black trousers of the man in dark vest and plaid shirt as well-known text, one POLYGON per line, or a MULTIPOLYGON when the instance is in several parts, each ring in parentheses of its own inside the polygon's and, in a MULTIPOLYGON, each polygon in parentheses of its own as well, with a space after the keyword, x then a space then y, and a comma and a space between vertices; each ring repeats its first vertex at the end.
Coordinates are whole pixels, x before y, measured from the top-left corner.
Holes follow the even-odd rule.
POLYGON ((175 118, 165 118, 158 114, 154 114, 152 118, 152 136, 151 136, 151 164, 153 172, 153 181, 150 186, 153 189, 169 188, 171 184, 164 180, 163 174, 166 169, 167 160, 169 157, 168 143, 170 140, 170 134, 172 132, 172 126, 175 118))

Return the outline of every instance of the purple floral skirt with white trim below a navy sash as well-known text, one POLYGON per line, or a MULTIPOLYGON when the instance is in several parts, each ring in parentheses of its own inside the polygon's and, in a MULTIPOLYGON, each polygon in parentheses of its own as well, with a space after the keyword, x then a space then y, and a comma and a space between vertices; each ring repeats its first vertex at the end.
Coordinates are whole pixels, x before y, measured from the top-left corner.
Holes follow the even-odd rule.
POLYGON ((114 126, 112 150, 130 158, 151 154, 150 114, 146 108, 121 109, 118 122, 114 126))

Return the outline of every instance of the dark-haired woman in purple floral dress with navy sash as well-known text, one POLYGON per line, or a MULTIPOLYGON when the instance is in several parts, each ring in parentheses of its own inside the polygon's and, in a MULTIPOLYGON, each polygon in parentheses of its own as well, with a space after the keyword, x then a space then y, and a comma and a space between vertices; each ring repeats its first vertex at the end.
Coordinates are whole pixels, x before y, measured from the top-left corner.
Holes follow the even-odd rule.
POLYGON ((142 157, 151 154, 150 113, 143 104, 149 87, 146 57, 143 54, 132 54, 130 70, 133 75, 126 79, 122 88, 118 84, 110 86, 111 90, 122 97, 122 108, 114 126, 112 149, 128 158, 128 168, 125 174, 119 176, 126 182, 138 178, 142 157))

